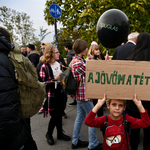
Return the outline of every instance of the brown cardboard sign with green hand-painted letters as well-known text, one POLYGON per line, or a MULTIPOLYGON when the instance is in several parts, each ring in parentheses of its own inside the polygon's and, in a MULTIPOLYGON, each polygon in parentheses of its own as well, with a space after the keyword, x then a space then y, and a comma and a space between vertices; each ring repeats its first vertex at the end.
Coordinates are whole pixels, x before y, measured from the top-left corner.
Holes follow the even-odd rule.
POLYGON ((85 88, 86 98, 150 101, 150 62, 87 60, 85 88))

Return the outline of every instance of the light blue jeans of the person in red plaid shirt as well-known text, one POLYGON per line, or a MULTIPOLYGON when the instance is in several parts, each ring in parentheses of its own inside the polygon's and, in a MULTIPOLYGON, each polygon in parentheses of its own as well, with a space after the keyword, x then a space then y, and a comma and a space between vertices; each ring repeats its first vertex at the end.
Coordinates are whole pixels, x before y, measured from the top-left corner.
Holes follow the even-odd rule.
MULTIPOLYGON (((73 136, 72 136, 72 144, 77 145, 78 140, 81 140, 80 130, 82 123, 86 117, 86 114, 88 114, 92 108, 94 107, 92 101, 79 101, 77 100, 77 116, 74 123, 74 129, 73 129, 73 136)), ((96 128, 88 127, 89 132, 89 149, 95 148, 99 142, 97 141, 96 136, 96 128)))

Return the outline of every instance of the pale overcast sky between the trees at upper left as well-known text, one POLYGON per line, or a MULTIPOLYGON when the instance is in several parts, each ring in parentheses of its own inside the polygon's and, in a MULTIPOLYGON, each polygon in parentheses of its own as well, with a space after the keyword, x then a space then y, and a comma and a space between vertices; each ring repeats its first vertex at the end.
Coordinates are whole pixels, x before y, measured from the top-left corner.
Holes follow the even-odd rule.
MULTIPOLYGON (((48 29, 51 33, 45 37, 42 42, 50 43, 53 41, 55 34, 54 26, 48 26, 44 20, 44 9, 46 0, 0 0, 0 6, 6 6, 7 8, 14 9, 18 12, 24 12, 30 16, 30 21, 33 22, 33 28, 36 29, 35 35, 38 37, 39 28, 43 26, 44 29, 48 29)), ((60 29, 60 25, 57 24, 57 29, 60 29)))

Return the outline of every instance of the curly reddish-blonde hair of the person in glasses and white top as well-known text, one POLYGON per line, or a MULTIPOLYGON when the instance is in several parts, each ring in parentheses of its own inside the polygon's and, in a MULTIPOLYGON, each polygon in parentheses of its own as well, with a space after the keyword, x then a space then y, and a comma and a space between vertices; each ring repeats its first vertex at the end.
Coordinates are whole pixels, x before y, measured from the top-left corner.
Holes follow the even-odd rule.
POLYGON ((45 47, 45 51, 44 51, 44 58, 43 58, 43 62, 44 63, 50 63, 54 58, 54 54, 55 54, 55 46, 53 45, 48 45, 45 47))

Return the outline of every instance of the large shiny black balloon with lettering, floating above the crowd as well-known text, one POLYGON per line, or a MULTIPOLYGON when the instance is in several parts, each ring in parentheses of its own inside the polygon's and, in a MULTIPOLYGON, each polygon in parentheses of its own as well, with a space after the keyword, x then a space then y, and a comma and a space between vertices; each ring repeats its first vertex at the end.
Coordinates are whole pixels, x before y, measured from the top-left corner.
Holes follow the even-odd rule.
POLYGON ((106 48, 115 48, 127 39, 130 22, 124 12, 110 9, 104 12, 96 27, 99 41, 106 48))

